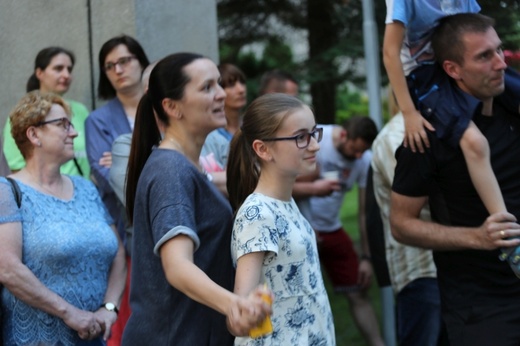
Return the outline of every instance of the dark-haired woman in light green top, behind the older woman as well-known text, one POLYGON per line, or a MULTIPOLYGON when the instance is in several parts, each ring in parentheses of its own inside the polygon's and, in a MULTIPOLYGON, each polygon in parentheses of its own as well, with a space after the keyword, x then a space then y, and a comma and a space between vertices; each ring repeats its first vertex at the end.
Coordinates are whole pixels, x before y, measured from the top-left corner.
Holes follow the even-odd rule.
MULTIPOLYGON (((75 60, 74 54, 64 48, 47 47, 42 49, 36 55, 34 73, 27 81, 27 92, 40 90, 42 93, 52 92, 63 96, 72 83, 72 69, 75 60)), ((74 157, 63 164, 61 172, 88 178, 90 166, 85 149, 85 119, 88 116, 88 110, 80 102, 66 101, 71 109, 71 121, 78 135, 74 138, 74 157)), ((4 127, 3 150, 12 171, 18 171, 25 166, 23 155, 11 136, 11 123, 9 121, 6 122, 4 127)))

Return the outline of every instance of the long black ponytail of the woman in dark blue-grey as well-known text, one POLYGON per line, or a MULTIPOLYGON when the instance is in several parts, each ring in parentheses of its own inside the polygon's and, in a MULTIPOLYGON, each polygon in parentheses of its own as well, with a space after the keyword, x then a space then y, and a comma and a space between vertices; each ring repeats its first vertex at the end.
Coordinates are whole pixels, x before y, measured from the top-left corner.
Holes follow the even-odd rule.
POLYGON ((126 213, 130 223, 133 223, 134 201, 137 182, 144 165, 152 153, 152 149, 161 140, 161 133, 155 121, 152 102, 148 94, 144 94, 137 107, 132 146, 126 171, 126 213))

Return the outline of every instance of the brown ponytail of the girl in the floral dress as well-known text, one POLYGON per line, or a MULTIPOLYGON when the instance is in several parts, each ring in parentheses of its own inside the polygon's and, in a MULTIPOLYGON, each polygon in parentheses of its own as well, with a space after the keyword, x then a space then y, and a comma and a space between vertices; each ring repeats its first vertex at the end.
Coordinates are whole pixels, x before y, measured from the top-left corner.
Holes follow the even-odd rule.
POLYGON ((226 186, 233 210, 237 211, 247 196, 253 193, 259 178, 260 167, 256 154, 239 129, 231 140, 226 169, 226 186))

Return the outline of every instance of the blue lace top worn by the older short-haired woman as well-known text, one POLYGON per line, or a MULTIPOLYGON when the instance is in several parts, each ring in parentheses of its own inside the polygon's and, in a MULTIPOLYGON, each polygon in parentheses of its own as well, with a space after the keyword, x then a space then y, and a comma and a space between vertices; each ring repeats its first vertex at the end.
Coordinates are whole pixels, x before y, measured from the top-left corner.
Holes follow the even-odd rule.
MULTIPOLYGON (((82 309, 103 303, 117 238, 94 185, 69 177, 70 200, 61 200, 18 182, 18 209, 11 185, 0 177, 0 224, 22 222, 22 261, 50 290, 82 309)), ((2 289, 5 345, 100 345, 79 339, 61 319, 33 308, 2 289)))

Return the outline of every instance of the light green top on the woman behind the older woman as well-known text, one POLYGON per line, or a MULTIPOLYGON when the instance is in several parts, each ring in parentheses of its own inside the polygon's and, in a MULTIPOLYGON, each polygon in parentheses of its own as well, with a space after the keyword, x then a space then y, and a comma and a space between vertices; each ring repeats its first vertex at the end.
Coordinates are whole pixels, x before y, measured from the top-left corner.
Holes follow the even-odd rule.
MULTIPOLYGON (((85 144, 85 120, 89 114, 87 107, 84 104, 66 100, 70 106, 70 110, 72 112, 71 122, 74 125, 74 128, 78 132, 78 136, 74 138, 74 157, 79 164, 83 172, 84 178, 90 177, 90 165, 88 164, 87 159, 87 148, 85 144)), ((25 167, 25 160, 18 150, 16 143, 11 136, 11 122, 9 118, 7 119, 4 127, 4 155, 7 159, 7 164, 12 171, 18 171, 25 167)), ((70 160, 69 162, 64 163, 61 166, 61 173, 69 174, 69 175, 81 175, 78 169, 76 168, 76 164, 74 160, 70 160)))

